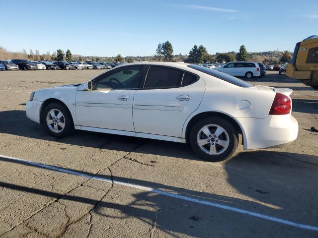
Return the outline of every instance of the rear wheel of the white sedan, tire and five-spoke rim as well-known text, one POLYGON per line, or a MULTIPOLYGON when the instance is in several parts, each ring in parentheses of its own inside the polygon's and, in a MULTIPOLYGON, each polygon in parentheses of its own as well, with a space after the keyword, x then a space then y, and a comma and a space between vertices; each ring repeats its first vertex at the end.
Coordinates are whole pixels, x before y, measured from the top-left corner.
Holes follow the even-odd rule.
POLYGON ((208 117, 191 129, 189 141, 202 159, 215 162, 230 158, 238 147, 238 131, 227 119, 208 117))

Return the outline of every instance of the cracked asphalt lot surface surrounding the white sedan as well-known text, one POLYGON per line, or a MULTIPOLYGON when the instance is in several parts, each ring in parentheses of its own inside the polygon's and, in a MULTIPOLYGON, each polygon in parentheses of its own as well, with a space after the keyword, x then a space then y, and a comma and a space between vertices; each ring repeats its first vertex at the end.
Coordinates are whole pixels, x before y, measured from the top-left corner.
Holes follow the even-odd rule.
POLYGON ((294 90, 298 139, 239 146, 218 163, 179 143, 85 131, 57 139, 26 118, 31 91, 100 72, 0 72, 1 237, 318 237, 318 91, 274 71, 255 79, 294 90))

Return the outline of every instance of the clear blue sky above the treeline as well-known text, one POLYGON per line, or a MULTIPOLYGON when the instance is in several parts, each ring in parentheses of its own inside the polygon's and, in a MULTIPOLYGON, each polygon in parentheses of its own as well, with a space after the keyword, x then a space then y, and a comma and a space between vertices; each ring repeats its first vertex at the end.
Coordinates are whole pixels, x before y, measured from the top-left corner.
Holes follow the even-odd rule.
POLYGON ((203 45, 210 54, 293 51, 318 35, 318 0, 14 0, 0 4, 0 46, 40 54, 151 56, 203 45))

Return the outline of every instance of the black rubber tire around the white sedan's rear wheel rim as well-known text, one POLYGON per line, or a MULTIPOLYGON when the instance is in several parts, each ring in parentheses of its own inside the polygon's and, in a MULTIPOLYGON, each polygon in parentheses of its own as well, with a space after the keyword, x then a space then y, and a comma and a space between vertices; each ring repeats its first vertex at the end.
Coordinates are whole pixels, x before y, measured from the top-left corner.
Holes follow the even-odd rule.
POLYGON ((234 154, 234 152, 238 148, 239 143, 239 134, 233 123, 231 123, 229 120, 222 118, 222 117, 207 117, 199 120, 196 122, 193 127, 191 128, 190 135, 189 135, 189 142, 192 147, 192 150, 203 160, 207 160, 210 162, 217 162, 217 161, 223 161, 228 158, 231 158, 231 156, 234 154), (221 127, 223 127, 226 132, 229 135, 229 146, 228 148, 219 155, 210 155, 204 152, 197 142, 197 136, 200 131, 200 129, 209 124, 216 124, 221 127))

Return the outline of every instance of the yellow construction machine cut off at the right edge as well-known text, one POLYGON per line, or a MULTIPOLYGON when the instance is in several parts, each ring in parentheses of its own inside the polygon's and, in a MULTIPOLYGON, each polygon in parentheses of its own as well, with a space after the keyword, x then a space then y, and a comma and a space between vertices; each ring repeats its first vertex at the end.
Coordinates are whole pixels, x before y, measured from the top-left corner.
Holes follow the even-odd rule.
POLYGON ((292 63, 286 66, 286 75, 318 89, 318 36, 310 36, 295 47, 292 63))

